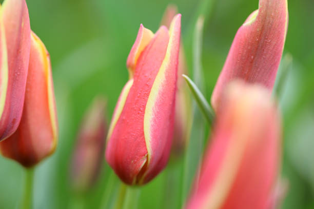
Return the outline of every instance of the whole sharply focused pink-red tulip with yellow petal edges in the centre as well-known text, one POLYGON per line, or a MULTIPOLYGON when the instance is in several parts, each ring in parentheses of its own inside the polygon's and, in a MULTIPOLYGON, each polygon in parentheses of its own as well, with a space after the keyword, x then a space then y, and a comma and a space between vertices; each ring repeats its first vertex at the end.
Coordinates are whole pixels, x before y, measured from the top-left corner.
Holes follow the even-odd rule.
POLYGON ((127 60, 130 80, 117 101, 106 159, 126 184, 145 184, 167 164, 173 137, 181 15, 153 35, 140 27, 127 60))

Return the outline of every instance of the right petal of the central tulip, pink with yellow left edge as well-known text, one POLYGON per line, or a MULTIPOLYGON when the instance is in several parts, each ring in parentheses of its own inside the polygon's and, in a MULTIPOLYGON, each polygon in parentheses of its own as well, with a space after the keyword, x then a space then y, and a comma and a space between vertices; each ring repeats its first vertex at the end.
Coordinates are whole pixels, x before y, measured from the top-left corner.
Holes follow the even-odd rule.
POLYGON ((168 142, 173 136, 171 126, 173 126, 175 106, 175 102, 171 101, 175 101, 180 33, 181 14, 178 14, 172 20, 167 52, 154 80, 145 108, 144 134, 148 153, 147 163, 151 169, 146 171, 142 181, 144 178, 145 181, 152 179, 156 171, 166 165, 169 157, 171 143, 168 142))

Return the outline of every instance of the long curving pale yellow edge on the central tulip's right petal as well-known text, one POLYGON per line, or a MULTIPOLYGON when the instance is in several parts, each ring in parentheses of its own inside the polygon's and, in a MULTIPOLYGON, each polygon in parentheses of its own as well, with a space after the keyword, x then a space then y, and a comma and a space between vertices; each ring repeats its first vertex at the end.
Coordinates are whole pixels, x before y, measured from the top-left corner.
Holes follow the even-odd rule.
MULTIPOLYGON (((166 77, 165 73, 168 68, 168 65, 170 63, 170 56, 171 53, 173 52, 174 48, 178 48, 179 51, 179 46, 180 46, 180 30, 179 30, 179 40, 178 40, 178 30, 175 30, 174 33, 174 27, 180 26, 180 21, 181 21, 181 15, 176 15, 172 23, 170 25, 170 30, 169 30, 169 44, 167 47, 167 52, 165 55, 165 58, 163 60, 163 63, 159 69, 158 74, 156 75, 156 78, 154 80, 153 86, 151 88, 146 108, 145 108, 145 114, 144 114, 144 136, 145 136, 145 142, 146 142, 146 148, 147 148, 147 163, 150 163, 151 160, 151 119, 154 117, 154 107, 157 101, 158 96, 160 95, 160 91, 162 90, 163 86, 165 86, 166 82, 166 77)), ((179 54, 179 53, 178 53, 179 54)), ((177 57, 178 58, 178 57, 177 57)), ((169 101, 170 102, 170 101, 169 101)), ((143 175, 144 179, 145 175, 143 175)))

